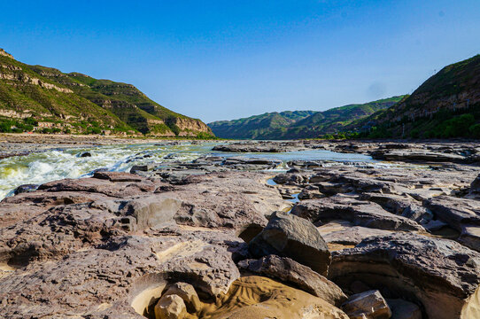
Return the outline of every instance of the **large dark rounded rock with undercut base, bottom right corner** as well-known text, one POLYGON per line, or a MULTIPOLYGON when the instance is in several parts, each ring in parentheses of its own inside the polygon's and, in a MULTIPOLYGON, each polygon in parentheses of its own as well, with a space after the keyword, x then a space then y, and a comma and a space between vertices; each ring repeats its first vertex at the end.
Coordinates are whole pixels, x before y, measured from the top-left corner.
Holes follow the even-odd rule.
POLYGON ((386 298, 413 301, 429 318, 480 317, 480 253, 453 240, 404 232, 332 255, 329 279, 340 287, 360 280, 386 298))

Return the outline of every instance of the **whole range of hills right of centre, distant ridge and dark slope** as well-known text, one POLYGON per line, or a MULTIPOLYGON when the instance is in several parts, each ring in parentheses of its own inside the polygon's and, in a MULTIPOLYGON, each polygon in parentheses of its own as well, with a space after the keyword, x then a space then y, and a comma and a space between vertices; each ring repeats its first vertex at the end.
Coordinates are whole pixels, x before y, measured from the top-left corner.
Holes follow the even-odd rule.
POLYGON ((480 55, 445 66, 411 96, 208 126, 217 136, 240 139, 480 138, 480 55))

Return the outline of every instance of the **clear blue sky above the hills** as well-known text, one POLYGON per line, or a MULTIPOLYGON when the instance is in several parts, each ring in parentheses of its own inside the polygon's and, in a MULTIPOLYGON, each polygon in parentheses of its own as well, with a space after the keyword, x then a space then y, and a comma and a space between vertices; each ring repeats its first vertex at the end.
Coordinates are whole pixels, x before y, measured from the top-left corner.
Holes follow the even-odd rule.
POLYGON ((480 0, 1 1, 22 62, 134 84, 205 122, 411 93, 480 53, 480 0))

